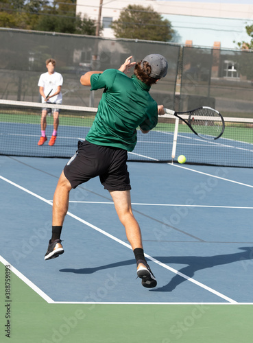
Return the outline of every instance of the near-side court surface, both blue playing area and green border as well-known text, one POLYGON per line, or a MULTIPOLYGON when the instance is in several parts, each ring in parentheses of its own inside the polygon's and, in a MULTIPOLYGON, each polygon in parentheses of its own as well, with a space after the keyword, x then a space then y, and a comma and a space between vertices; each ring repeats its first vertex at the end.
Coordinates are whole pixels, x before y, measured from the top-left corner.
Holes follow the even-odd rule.
POLYGON ((252 169, 128 163, 134 215, 158 280, 145 289, 97 178, 71 191, 65 252, 44 261, 65 163, 0 156, 1 279, 11 265, 1 327, 10 304, 13 342, 250 342, 252 169))

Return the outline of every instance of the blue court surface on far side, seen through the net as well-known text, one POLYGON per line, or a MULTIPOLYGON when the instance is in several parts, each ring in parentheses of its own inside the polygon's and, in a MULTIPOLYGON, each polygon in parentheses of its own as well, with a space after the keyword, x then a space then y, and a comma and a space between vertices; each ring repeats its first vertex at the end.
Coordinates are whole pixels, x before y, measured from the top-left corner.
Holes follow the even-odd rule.
MULTIPOLYGON (((34 120, 37 121, 36 124, 1 122, 0 154, 70 158, 77 150, 77 141, 83 141, 90 130, 89 126, 61 125, 56 145, 52 148, 46 143, 41 147, 37 145, 40 139, 40 117, 37 116, 34 120)), ((51 120, 52 117, 49 117, 49 121, 51 120)), ((230 129, 230 127, 226 128, 224 135, 217 141, 204 141, 191 130, 179 132, 177 154, 178 156, 186 155, 187 162, 193 164, 253 167, 252 128, 236 128, 241 129, 239 132, 230 129)), ((47 134, 53 132, 52 125, 48 125, 47 132, 47 134)), ((138 142, 134 151, 129 153, 129 159, 131 161, 171 161, 173 133, 173 126, 165 130, 162 123, 160 123, 160 128, 158 126, 149 134, 142 134, 138 130, 138 142)))

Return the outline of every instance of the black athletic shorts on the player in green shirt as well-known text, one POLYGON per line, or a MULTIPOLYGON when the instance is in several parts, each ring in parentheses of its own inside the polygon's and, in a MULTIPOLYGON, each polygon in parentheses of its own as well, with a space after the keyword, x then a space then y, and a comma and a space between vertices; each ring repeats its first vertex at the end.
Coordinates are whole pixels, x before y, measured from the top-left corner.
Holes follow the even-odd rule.
POLYGON ((79 141, 76 154, 63 171, 72 188, 99 176, 101 184, 108 191, 128 191, 131 186, 127 159, 128 152, 119 147, 79 141))

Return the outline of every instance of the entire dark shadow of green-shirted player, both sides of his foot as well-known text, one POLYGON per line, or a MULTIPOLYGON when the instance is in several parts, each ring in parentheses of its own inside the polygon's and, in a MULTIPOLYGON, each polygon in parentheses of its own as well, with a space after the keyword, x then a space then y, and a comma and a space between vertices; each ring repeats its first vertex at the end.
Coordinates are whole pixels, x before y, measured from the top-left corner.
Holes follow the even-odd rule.
MULTIPOLYGON (((247 269, 249 263, 253 264, 252 262, 249 262, 250 260, 253 260, 253 247, 243 247, 239 248, 240 250, 243 250, 243 252, 237 252, 234 254, 226 254, 226 255, 215 255, 215 256, 208 256, 208 257, 202 257, 202 256, 177 256, 177 257, 155 257, 158 261, 165 263, 167 265, 186 265, 185 267, 178 270, 178 272, 184 274, 185 276, 189 278, 193 278, 195 275, 195 272, 198 270, 213 268, 215 265, 225 265, 229 263, 234 263, 241 261, 241 268, 247 269)), ((80 268, 80 269, 73 269, 73 268, 66 268, 61 269, 60 272, 69 272, 69 273, 75 273, 75 274, 92 274, 94 272, 97 272, 98 270, 106 270, 110 268, 117 268, 122 267, 124 265, 135 265, 136 261, 135 259, 130 259, 127 261, 120 261, 116 263, 110 263, 108 265, 100 265, 99 267, 95 268, 80 268)), ((152 270, 154 274, 155 272, 155 265, 152 265, 152 270)), ((165 274, 166 275, 166 274, 165 274)), ((152 292, 172 292, 173 289, 178 287, 181 283, 186 281, 186 278, 183 276, 180 276, 179 274, 176 274, 176 276, 173 276, 173 278, 167 283, 167 285, 164 285, 162 287, 156 287, 154 289, 150 289, 152 292)), ((159 284, 159 280, 158 280, 159 284)))

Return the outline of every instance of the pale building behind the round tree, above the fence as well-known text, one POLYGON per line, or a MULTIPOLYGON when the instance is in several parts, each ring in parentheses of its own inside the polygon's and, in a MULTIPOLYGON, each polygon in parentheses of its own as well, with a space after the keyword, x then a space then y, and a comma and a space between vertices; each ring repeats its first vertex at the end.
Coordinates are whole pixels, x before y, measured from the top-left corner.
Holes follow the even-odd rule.
MULTIPOLYGON (((101 0, 77 0, 76 12, 87 14, 97 21, 101 0)), ((101 8, 102 36, 114 37, 110 23, 119 19, 123 8, 132 5, 152 6, 164 19, 171 21, 176 35, 173 41, 184 44, 213 47, 220 42, 223 48, 235 48, 242 40, 250 41, 245 25, 253 24, 252 0, 209 0, 209 1, 157 1, 157 0, 103 0, 101 8), (234 43, 236 42, 236 43, 234 43)))

